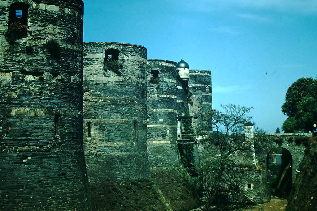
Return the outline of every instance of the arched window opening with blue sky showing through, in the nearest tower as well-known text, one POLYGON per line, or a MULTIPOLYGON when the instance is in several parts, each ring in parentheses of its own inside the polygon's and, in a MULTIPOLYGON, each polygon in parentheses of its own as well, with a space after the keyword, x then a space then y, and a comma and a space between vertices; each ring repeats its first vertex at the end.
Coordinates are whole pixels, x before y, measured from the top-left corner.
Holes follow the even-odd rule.
POLYGON ((28 10, 26 3, 13 3, 9 7, 8 31, 6 40, 9 42, 26 37, 28 34, 28 10))

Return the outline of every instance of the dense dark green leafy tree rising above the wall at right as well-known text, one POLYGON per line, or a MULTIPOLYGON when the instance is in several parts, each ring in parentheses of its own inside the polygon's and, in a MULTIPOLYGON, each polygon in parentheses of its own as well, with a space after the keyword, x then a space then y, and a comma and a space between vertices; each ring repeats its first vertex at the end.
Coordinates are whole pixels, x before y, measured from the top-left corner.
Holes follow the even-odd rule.
POLYGON ((282 112, 288 118, 282 130, 285 133, 314 132, 317 120, 317 79, 300 78, 287 90, 282 112))

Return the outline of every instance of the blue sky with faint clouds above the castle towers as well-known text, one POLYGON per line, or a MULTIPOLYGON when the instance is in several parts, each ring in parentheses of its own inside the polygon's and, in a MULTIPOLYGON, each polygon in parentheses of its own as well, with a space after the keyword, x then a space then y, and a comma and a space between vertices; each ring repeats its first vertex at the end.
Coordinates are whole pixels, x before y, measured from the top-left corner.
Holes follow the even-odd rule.
POLYGON ((254 107, 281 129, 288 87, 317 76, 316 0, 83 0, 84 42, 147 48, 148 59, 210 70, 213 109, 254 107))

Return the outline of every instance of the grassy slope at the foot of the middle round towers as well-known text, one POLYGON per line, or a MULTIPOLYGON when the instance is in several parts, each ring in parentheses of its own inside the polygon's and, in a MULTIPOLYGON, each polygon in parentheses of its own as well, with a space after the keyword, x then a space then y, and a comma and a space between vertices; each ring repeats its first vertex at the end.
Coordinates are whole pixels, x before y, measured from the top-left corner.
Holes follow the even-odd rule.
POLYGON ((151 175, 152 178, 91 185, 93 210, 190 210, 199 205, 189 190, 195 185, 188 185, 192 179, 181 167, 155 168, 151 175))

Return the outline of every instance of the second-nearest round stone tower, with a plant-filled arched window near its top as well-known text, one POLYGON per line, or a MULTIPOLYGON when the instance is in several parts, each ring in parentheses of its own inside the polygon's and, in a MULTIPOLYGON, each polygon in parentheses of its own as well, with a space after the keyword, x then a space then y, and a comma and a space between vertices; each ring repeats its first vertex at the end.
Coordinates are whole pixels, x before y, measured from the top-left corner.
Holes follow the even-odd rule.
POLYGON ((84 151, 91 184, 149 177, 146 48, 84 43, 84 151))

